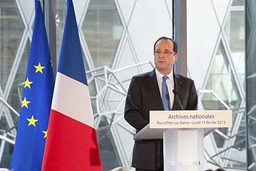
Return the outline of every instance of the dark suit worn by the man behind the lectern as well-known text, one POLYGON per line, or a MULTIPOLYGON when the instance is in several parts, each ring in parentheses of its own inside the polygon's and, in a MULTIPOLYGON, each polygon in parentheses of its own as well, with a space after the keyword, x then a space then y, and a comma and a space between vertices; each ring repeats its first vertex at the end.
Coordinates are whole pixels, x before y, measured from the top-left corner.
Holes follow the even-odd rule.
MULTIPOLYGON (((194 81, 190 78, 173 75, 174 88, 184 110, 195 110, 198 95, 194 81)), ((177 95, 172 110, 181 110, 177 95)), ((150 110, 164 110, 155 69, 148 73, 133 76, 126 98, 125 119, 136 129, 136 133, 149 123, 150 110)), ((163 167, 163 140, 135 140, 132 166, 144 170, 157 170, 163 167)))

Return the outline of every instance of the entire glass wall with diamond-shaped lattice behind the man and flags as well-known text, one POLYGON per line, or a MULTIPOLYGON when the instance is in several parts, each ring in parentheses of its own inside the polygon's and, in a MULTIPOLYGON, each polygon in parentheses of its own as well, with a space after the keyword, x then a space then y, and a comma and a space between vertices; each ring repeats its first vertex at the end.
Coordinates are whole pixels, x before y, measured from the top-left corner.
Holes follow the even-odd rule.
MULTIPOLYGON (((134 128, 123 120, 126 91, 133 75, 153 68, 155 40, 173 34, 172 1, 73 0, 73 3, 103 170, 130 167, 134 128)), ((248 158, 253 170, 255 65, 253 48, 248 48, 251 57, 247 58, 247 65, 251 70, 247 71, 245 103, 244 1, 187 3, 188 71, 197 86, 200 105, 202 109, 233 111, 233 128, 215 130, 205 138, 205 158, 209 164, 206 166, 245 170, 246 104, 251 135, 248 158)), ((66 0, 56 0, 55 7, 58 62, 66 0)), ((254 18, 251 19, 249 23, 253 23, 254 18)), ((0 167, 9 168, 11 162, 33 22, 34 0, 0 1, 0 167)), ((253 26, 249 31, 253 31, 253 26)), ((252 34, 247 34, 253 45, 250 37, 252 34)))

